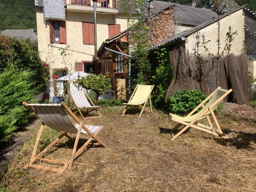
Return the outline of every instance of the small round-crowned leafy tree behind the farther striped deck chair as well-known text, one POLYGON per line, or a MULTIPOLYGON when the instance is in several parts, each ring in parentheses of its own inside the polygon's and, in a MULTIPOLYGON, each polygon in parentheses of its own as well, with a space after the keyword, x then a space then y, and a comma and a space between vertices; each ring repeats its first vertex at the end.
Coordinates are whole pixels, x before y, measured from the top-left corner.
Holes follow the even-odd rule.
POLYGON ((78 80, 78 84, 88 90, 93 90, 96 93, 94 103, 98 104, 98 97, 110 92, 111 84, 108 75, 90 73, 86 77, 78 80))

